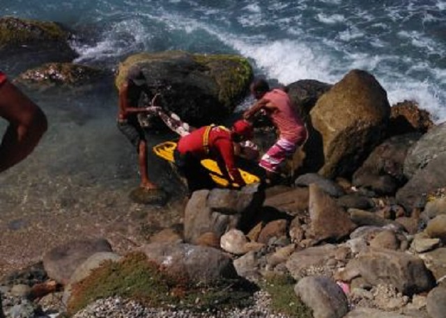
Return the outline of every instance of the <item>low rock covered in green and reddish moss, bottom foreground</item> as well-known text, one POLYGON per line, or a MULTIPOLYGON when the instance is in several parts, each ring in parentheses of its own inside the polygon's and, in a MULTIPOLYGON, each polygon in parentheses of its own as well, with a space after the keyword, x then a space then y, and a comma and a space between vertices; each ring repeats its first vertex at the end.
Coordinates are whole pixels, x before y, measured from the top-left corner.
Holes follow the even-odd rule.
POLYGON ((129 253, 119 262, 105 262, 73 285, 67 310, 74 315, 98 299, 121 296, 148 307, 213 312, 251 305, 254 291, 252 285, 236 280, 192 284, 149 262, 144 253, 129 253))

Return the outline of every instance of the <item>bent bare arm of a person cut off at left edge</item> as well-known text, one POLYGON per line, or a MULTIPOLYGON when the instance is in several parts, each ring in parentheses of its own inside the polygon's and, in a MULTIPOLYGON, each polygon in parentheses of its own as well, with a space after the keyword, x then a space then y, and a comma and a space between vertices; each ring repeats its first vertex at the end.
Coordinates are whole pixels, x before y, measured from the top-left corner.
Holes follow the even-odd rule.
POLYGON ((0 145, 0 173, 25 159, 47 131, 45 113, 0 72, 0 117, 9 122, 0 145))

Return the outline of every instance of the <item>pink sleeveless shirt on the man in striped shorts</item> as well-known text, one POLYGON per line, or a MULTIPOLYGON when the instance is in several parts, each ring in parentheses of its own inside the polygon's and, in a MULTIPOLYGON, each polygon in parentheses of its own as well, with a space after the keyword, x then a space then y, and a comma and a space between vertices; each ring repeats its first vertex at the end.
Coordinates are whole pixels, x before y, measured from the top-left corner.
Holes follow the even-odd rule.
POLYGON ((283 90, 274 89, 263 96, 277 107, 270 113, 270 118, 279 129, 280 138, 291 143, 301 143, 307 138, 307 129, 298 114, 293 109, 289 95, 283 90))

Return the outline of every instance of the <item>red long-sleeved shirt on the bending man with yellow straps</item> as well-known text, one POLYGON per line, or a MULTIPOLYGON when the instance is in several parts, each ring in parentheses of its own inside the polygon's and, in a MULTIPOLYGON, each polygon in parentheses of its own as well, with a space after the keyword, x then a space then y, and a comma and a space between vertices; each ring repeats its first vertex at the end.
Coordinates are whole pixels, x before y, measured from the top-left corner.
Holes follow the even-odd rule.
POLYGON ((245 185, 240 171, 235 164, 234 148, 231 138, 231 132, 223 127, 215 126, 210 129, 208 148, 209 153, 203 147, 203 135, 208 126, 194 130, 190 134, 183 136, 178 141, 177 149, 181 154, 190 152, 197 159, 215 159, 219 167, 226 167, 229 175, 234 182, 239 185, 245 185))

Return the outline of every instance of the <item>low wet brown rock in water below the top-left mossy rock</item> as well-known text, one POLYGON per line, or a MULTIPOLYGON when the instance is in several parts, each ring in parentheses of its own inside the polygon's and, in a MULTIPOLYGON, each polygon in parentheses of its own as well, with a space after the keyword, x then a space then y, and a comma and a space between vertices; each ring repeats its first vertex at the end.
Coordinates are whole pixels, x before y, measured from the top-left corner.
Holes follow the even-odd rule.
POLYGON ((15 81, 39 86, 82 86, 91 84, 105 74, 93 67, 74 63, 45 63, 20 74, 15 81))

